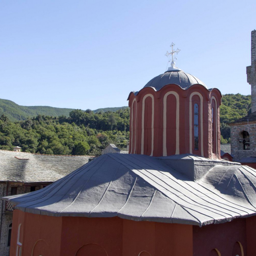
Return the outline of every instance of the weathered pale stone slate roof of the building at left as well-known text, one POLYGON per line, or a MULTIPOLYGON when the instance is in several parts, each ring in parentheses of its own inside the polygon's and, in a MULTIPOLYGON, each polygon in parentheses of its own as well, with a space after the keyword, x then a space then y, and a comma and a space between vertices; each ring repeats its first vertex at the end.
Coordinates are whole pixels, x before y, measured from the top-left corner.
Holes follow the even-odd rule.
POLYGON ((89 158, 0 150, 0 181, 54 182, 87 163, 89 158))

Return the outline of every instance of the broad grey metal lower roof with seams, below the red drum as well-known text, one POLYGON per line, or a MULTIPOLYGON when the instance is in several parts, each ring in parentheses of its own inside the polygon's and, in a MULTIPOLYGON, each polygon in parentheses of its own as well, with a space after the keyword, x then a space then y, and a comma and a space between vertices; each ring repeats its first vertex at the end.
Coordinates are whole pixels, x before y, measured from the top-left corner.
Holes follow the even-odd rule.
POLYGON ((202 226, 256 215, 255 184, 256 170, 224 160, 107 154, 44 189, 4 200, 41 215, 202 226))

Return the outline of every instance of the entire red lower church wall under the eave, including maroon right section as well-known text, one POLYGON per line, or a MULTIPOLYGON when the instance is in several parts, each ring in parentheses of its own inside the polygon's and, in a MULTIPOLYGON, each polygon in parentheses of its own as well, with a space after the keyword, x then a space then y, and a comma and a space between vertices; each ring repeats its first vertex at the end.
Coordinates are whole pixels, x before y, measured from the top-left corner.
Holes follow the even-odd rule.
POLYGON ((50 217, 14 210, 10 255, 221 256, 256 255, 256 217, 198 226, 114 218, 50 217))

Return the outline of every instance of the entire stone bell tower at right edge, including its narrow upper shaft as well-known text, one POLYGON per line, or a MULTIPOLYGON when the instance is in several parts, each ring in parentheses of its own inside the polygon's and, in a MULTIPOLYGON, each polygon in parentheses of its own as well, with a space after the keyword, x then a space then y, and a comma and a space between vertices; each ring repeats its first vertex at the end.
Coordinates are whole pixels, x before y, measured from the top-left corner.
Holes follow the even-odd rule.
POLYGON ((251 113, 230 123, 231 154, 234 161, 256 168, 256 30, 251 33, 251 66, 246 67, 251 85, 251 113))

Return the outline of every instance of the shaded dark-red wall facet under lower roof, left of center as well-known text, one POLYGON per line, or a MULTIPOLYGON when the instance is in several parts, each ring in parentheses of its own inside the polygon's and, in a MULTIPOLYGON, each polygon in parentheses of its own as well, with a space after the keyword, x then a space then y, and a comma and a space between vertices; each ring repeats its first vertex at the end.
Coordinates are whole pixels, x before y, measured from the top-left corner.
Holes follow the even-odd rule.
POLYGON ((122 219, 62 217, 61 256, 75 256, 85 244, 97 244, 108 256, 122 255, 122 219))

